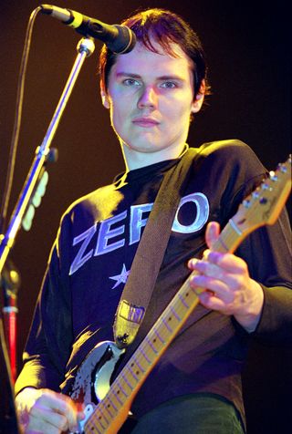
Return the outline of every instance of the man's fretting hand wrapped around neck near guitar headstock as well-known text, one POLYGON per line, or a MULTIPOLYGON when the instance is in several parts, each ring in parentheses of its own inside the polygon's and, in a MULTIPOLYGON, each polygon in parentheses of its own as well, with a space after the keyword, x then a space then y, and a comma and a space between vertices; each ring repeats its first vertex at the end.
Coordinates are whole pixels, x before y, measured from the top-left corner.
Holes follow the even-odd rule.
POLYGON ((224 315, 234 315, 236 321, 249 333, 259 322, 264 293, 260 284, 253 280, 245 261, 232 253, 218 253, 212 250, 218 239, 220 226, 210 222, 206 229, 208 250, 203 259, 191 259, 188 266, 198 272, 191 279, 193 288, 203 288, 200 302, 208 309, 224 315))

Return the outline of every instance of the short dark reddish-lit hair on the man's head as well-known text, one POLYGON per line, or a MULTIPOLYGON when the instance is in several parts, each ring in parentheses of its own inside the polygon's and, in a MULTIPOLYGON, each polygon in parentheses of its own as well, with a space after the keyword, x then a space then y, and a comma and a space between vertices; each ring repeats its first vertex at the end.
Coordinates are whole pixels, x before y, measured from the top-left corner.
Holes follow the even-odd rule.
MULTIPOLYGON (((193 28, 180 15, 166 9, 146 9, 130 16, 121 24, 130 27, 137 41, 154 53, 157 53, 157 49, 151 44, 151 38, 172 57, 177 57, 173 52, 172 44, 181 47, 183 52, 193 60, 193 97, 200 93, 203 79, 205 94, 209 93, 207 66, 201 41, 193 28)), ((106 46, 101 49, 99 74, 105 91, 109 86, 110 69, 118 56, 122 55, 112 53, 106 46)))

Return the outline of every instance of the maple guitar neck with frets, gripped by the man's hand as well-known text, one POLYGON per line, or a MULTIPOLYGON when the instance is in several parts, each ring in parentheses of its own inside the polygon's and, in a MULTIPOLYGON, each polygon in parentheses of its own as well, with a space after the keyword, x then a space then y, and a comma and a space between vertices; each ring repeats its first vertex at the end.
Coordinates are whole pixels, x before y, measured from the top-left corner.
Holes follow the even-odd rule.
MULTIPOLYGON (((229 222, 214 245, 217 252, 232 251, 238 245, 241 235, 235 225, 229 222)), ((110 387, 107 396, 99 402, 86 423, 86 432, 111 432, 110 425, 117 418, 122 408, 130 408, 130 404, 141 388, 144 380, 155 367, 158 360, 183 324, 199 303, 198 293, 190 285, 193 272, 172 298, 172 302, 165 308, 162 315, 151 327, 141 345, 130 357, 128 363, 120 371, 110 387)))

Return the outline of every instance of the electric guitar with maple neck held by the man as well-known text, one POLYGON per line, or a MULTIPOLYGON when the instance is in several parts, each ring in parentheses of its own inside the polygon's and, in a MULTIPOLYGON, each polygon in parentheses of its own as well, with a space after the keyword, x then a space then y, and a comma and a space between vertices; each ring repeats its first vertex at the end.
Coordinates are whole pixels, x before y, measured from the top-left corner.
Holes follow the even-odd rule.
MULTIPOLYGON (((291 157, 279 164, 275 172, 271 171, 269 178, 239 206, 216 241, 214 251, 233 253, 249 233, 276 222, 290 189, 291 157)), ((120 429, 141 385, 199 302, 200 290, 189 284, 195 273, 175 294, 111 385, 110 377, 125 349, 105 341, 91 350, 78 368, 70 393, 74 401, 85 407, 78 433, 114 434, 120 429)))

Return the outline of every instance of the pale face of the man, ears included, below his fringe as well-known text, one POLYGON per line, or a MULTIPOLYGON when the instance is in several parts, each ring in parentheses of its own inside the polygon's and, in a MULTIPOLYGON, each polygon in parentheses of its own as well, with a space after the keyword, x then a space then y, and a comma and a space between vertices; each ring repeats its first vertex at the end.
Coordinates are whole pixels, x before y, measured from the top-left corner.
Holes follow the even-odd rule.
POLYGON ((130 53, 118 56, 110 70, 108 93, 103 93, 112 127, 125 150, 182 149, 190 115, 203 102, 202 96, 193 100, 192 62, 181 47, 173 45, 178 57, 171 57, 154 46, 160 54, 137 44, 130 53))

